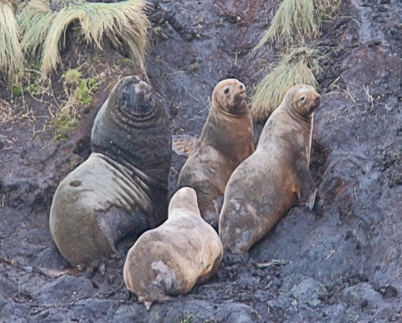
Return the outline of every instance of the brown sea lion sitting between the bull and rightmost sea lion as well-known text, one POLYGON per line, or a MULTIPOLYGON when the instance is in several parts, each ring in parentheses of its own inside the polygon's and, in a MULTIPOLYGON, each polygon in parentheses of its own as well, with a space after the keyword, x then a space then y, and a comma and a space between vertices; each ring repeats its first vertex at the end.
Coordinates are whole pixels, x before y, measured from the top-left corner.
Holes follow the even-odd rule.
POLYGON ((177 188, 195 189, 201 216, 215 229, 230 175, 254 152, 253 120, 245 99, 246 87, 236 79, 215 86, 201 136, 177 182, 177 188))

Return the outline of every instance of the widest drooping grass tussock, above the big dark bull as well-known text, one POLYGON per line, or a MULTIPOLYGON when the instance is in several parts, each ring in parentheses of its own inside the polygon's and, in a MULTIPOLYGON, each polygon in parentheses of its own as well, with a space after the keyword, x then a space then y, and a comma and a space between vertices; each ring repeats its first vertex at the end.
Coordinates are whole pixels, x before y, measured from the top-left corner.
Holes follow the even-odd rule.
POLYGON ((102 50, 104 37, 125 52, 144 69, 148 46, 149 21, 144 0, 117 3, 82 0, 30 0, 18 15, 22 31, 21 44, 29 56, 40 56, 40 71, 49 75, 61 62, 59 50, 66 45, 66 30, 74 27, 75 36, 102 50))

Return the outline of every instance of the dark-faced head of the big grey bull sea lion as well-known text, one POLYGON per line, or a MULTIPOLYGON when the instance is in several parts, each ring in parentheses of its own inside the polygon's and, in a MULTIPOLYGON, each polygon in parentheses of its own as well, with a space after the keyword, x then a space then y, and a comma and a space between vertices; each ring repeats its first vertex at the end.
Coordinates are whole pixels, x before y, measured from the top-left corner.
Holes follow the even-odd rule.
POLYGON ((155 107, 155 99, 146 82, 129 76, 116 83, 109 104, 115 104, 123 115, 132 119, 149 115, 155 107))

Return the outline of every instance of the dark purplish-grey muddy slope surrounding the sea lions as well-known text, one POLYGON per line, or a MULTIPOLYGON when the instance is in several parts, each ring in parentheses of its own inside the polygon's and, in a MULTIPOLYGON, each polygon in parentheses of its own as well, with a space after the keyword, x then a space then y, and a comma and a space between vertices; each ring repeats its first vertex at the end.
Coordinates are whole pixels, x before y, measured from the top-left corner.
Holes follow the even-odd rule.
MULTIPOLYGON (((279 47, 250 50, 280 1, 151 2, 149 81, 172 133, 198 136, 219 80, 250 93, 277 62, 279 47)), ((124 255, 103 275, 60 275, 69 266, 48 225, 59 181, 89 156, 95 114, 134 64, 69 46, 44 101, 0 84, 0 322, 402 322, 401 16, 399 0, 344 0, 324 25, 313 210, 292 209, 249 254, 225 255, 209 282, 149 313, 124 285, 124 255), (79 125, 60 130, 50 118, 65 98, 60 76, 76 66, 101 83, 79 125)), ((171 193, 184 161, 173 155, 171 193)))

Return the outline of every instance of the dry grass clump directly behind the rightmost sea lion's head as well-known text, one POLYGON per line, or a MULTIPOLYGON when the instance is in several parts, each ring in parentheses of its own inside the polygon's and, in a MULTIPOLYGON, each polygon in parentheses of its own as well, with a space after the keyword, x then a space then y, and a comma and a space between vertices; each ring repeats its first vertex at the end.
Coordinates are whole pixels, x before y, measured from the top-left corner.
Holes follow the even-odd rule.
POLYGON ((280 104, 290 87, 308 84, 317 88, 314 74, 320 71, 316 50, 309 47, 291 49, 257 87, 252 97, 255 120, 266 120, 280 104))

